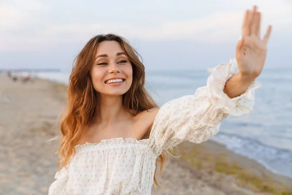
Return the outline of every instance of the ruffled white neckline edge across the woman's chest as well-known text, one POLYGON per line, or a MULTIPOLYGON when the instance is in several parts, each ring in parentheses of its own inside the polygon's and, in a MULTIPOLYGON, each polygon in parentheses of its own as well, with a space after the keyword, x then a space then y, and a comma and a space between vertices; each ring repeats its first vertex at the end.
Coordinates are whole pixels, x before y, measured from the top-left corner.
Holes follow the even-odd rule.
POLYGON ((115 137, 115 138, 110 138, 110 139, 102 139, 99 143, 91 143, 91 142, 86 142, 84 144, 77 144, 74 146, 75 149, 81 150, 83 148, 89 148, 93 146, 110 146, 110 145, 115 145, 115 144, 146 144, 148 142, 148 139, 140 139, 138 140, 137 138, 133 137, 115 137))

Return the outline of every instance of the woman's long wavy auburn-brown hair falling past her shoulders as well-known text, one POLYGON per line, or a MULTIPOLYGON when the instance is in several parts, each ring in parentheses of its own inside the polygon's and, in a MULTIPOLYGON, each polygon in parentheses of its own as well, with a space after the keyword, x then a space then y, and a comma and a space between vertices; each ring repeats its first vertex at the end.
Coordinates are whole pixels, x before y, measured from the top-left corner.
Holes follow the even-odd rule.
MULTIPOLYGON (((93 37, 86 43, 74 60, 73 70, 69 78, 67 108, 60 124, 62 135, 58 148, 58 170, 60 170, 60 166, 66 168, 70 163, 71 157, 76 153, 74 146, 81 137, 84 127, 89 124, 93 116, 97 97, 92 85, 90 70, 98 44, 102 41, 117 41, 120 43, 132 64, 133 81, 128 92, 123 95, 125 109, 131 115, 136 116, 142 111, 158 107, 145 88, 145 67, 142 63, 142 58, 128 41, 113 34, 93 37)), ((169 155, 170 153, 165 150, 156 159, 156 165, 159 166, 156 166, 154 173, 154 187, 160 187, 157 180, 157 169, 160 169, 160 176, 165 162, 169 160, 169 155)))

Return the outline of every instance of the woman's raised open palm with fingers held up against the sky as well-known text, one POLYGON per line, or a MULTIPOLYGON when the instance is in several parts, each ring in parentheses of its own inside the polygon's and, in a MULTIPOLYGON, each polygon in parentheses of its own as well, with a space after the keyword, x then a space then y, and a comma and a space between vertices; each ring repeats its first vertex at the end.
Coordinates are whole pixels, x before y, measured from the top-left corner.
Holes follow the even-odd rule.
POLYGON ((242 24, 242 38, 237 43, 236 59, 239 72, 242 75, 256 78, 260 75, 267 56, 267 42, 272 26, 266 35, 260 39, 261 14, 254 6, 253 11, 247 10, 242 24))

